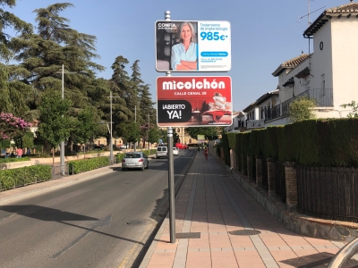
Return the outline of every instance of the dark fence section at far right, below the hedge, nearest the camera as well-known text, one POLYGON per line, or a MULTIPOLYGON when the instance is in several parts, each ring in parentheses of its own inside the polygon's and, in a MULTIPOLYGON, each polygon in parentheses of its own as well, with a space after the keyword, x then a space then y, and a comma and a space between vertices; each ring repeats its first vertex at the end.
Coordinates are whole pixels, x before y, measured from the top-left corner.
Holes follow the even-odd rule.
POLYGON ((358 169, 298 165, 297 193, 303 214, 358 222, 358 169))

